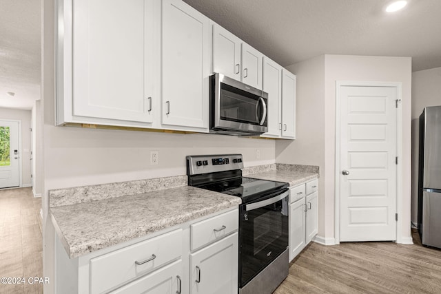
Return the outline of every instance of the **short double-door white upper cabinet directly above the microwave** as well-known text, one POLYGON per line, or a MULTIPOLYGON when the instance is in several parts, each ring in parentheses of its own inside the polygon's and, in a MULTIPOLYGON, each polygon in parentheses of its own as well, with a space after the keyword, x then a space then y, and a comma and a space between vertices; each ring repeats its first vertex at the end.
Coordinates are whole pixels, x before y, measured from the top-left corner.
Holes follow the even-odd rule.
POLYGON ((213 70, 262 89, 263 54, 217 23, 213 24, 213 70))

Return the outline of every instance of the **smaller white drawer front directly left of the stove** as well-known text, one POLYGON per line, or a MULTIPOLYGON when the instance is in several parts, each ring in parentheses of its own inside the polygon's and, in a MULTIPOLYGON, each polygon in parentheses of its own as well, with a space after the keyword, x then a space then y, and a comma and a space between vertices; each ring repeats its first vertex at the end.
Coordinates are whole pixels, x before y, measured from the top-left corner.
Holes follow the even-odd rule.
POLYGON ((198 249, 213 240, 223 238, 232 231, 236 231, 238 226, 239 212, 237 209, 192 224, 190 228, 192 250, 198 249))

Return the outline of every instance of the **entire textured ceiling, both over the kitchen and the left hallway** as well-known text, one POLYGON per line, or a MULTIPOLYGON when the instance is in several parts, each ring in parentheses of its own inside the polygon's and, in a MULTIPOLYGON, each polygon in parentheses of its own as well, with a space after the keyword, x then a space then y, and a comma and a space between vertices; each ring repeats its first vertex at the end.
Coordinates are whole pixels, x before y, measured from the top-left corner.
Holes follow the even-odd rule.
MULTIPOLYGON (((441 0, 184 0, 283 66, 320 54, 411 56, 441 67, 441 0)), ((40 0, 0 0, 0 107, 40 97, 40 0), (7 92, 14 92, 11 97, 7 92)))

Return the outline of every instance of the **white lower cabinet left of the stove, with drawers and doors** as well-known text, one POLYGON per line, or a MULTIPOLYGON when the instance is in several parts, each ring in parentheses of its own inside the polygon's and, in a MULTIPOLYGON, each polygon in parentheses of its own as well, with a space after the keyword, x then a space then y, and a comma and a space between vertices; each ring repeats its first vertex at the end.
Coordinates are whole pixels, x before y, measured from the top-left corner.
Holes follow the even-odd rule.
POLYGON ((56 293, 236 294, 238 209, 73 259, 57 238, 55 267, 56 293))

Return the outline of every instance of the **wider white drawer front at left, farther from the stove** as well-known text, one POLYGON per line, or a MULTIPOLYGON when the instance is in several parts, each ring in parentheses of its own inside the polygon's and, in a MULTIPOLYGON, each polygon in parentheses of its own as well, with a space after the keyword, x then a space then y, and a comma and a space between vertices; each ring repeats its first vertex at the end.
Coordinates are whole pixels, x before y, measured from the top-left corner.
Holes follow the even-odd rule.
POLYGON ((92 258, 90 292, 101 293, 179 258, 182 255, 182 242, 182 229, 178 229, 92 258))

